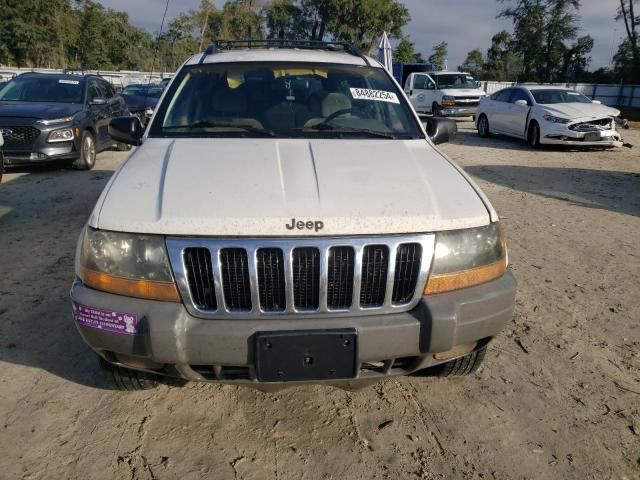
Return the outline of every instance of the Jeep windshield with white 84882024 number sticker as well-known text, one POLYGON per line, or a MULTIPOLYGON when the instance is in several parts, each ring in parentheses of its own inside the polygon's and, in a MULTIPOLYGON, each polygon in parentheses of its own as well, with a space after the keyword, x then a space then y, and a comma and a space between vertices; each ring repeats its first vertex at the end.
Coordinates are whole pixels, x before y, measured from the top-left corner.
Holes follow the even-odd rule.
POLYGON ((271 62, 183 70, 150 135, 424 138, 380 68, 271 62))

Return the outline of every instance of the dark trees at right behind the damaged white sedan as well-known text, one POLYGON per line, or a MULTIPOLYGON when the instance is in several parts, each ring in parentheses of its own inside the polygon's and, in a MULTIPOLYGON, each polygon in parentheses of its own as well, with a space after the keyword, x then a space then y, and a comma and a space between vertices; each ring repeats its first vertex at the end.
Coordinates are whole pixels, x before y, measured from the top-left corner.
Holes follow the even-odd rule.
POLYGON ((588 69, 594 40, 578 36, 580 0, 498 0, 506 4, 498 18, 513 22, 513 33, 501 31, 484 54, 474 49, 461 70, 481 80, 519 82, 640 83, 640 2, 616 0, 612 17, 627 33, 611 67, 588 69), (615 12, 615 13, 614 13, 615 12))

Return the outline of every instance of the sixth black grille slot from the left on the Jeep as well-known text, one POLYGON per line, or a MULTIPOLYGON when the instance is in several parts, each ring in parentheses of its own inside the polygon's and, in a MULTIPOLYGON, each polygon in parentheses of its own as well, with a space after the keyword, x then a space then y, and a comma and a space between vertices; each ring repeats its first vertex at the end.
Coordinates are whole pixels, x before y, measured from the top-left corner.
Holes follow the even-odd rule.
POLYGON ((389 247, 386 245, 365 247, 362 256, 360 307, 376 308, 384 305, 388 269, 389 247))

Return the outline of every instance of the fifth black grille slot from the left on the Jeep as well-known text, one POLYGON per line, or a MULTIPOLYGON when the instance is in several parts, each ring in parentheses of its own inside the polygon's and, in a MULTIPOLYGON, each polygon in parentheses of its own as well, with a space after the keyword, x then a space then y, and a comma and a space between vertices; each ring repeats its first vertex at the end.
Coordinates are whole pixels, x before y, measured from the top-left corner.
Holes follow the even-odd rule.
POLYGON ((327 273, 327 307, 344 310, 353 304, 353 247, 334 247, 329 250, 327 273))

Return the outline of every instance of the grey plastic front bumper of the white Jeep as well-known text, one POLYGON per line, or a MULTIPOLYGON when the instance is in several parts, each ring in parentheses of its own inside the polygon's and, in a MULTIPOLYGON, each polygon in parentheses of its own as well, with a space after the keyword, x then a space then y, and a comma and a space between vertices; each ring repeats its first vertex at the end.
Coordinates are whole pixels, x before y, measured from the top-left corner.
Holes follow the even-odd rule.
MULTIPOLYGON (((259 332, 353 329, 357 333, 357 376, 310 381, 353 385, 406 375, 441 363, 435 353, 486 342, 511 320, 516 281, 510 272, 493 282, 424 297, 410 312, 364 317, 204 320, 184 305, 112 295, 73 284, 78 306, 127 312, 140 319, 137 335, 109 333, 76 323, 87 344, 106 360, 128 368, 195 381, 261 385, 255 373, 259 332)), ((269 383, 273 385, 273 383, 269 383)), ((277 385, 277 384, 276 384, 277 385)))

